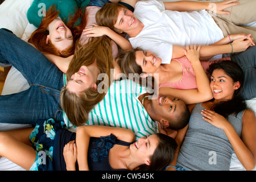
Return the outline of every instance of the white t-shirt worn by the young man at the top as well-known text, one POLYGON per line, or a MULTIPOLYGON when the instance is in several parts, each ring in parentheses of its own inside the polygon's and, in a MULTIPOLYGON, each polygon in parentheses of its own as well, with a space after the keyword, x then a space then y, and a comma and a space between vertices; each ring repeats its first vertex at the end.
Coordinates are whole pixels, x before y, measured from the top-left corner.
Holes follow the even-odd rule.
POLYGON ((136 37, 129 39, 131 45, 155 53, 163 64, 170 63, 172 59, 172 45, 205 46, 224 38, 220 27, 205 10, 165 10, 163 2, 150 0, 137 2, 134 15, 144 28, 136 37))

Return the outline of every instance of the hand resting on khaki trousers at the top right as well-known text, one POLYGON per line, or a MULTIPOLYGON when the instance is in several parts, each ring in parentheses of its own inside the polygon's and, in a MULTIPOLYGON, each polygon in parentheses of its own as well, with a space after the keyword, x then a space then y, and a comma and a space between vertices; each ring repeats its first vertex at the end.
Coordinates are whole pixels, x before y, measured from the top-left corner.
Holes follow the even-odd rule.
POLYGON ((209 4, 208 10, 212 10, 214 14, 228 15, 230 12, 223 10, 227 9, 228 7, 239 5, 240 3, 237 3, 237 1, 239 0, 212 2, 209 4))

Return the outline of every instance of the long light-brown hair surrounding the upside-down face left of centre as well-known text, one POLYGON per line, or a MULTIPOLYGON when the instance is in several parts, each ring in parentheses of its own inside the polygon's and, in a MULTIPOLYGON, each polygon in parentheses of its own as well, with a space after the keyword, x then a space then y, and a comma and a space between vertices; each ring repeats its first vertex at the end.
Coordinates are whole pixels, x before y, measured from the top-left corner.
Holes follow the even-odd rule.
MULTIPOLYGON (((104 79, 98 80, 96 84, 104 82, 104 85, 110 86, 110 69, 114 67, 111 41, 106 36, 92 38, 87 44, 77 49, 69 64, 67 81, 79 71, 82 65, 88 66, 95 60, 100 73, 106 73, 104 79)), ((64 86, 60 93, 61 107, 73 125, 81 126, 87 122, 89 112, 105 97, 105 94, 89 88, 77 96, 77 94, 69 92, 67 86, 64 86)))

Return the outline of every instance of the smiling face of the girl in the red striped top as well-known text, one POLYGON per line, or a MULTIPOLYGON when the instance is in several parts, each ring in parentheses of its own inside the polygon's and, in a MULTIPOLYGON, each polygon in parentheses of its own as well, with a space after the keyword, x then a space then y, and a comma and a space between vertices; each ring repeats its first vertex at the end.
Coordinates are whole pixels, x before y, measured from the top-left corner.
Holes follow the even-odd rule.
POLYGON ((136 63, 141 66, 144 73, 155 73, 162 63, 160 57, 148 51, 136 51, 136 63))

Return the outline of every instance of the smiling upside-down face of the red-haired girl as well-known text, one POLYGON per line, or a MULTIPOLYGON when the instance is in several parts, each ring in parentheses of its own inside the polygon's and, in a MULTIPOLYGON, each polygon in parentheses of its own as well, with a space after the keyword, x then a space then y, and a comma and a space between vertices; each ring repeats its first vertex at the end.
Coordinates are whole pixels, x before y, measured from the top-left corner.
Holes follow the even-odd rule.
POLYGON ((46 43, 51 43, 61 52, 73 45, 73 35, 71 30, 65 25, 59 16, 55 18, 48 26, 49 35, 46 43))

